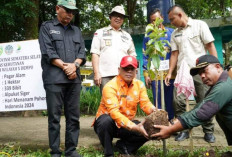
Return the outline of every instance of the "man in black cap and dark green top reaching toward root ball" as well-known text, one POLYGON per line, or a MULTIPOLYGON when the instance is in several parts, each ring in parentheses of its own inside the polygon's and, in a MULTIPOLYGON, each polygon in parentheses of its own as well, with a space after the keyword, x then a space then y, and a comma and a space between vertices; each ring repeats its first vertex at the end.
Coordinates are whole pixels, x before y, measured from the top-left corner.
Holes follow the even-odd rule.
POLYGON ((216 57, 204 55, 197 59, 196 67, 191 68, 190 73, 199 74, 203 83, 210 86, 205 98, 193 110, 180 115, 173 125, 155 126, 161 130, 153 137, 168 138, 174 132, 202 125, 216 115, 228 145, 232 145, 232 80, 228 72, 216 57))

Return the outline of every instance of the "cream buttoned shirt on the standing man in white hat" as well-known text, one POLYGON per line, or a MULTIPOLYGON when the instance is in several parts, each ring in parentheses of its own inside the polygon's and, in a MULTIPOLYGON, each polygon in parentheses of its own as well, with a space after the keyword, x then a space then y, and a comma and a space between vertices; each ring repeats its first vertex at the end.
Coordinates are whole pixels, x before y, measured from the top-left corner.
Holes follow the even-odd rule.
POLYGON ((90 52, 99 55, 101 77, 118 75, 122 57, 136 56, 130 34, 122 29, 115 30, 111 26, 98 29, 94 33, 90 52))

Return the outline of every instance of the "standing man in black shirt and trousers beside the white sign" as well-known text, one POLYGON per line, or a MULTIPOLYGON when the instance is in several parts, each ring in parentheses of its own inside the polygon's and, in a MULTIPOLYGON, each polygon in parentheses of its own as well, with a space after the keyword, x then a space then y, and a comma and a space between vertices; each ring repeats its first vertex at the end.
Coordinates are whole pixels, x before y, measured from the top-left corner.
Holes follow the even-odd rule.
POLYGON ((80 66, 85 63, 85 45, 78 27, 70 22, 76 12, 75 0, 58 0, 57 17, 42 24, 39 44, 43 83, 48 110, 49 146, 52 157, 60 157, 60 118, 66 119, 65 156, 76 152, 80 130, 80 66))

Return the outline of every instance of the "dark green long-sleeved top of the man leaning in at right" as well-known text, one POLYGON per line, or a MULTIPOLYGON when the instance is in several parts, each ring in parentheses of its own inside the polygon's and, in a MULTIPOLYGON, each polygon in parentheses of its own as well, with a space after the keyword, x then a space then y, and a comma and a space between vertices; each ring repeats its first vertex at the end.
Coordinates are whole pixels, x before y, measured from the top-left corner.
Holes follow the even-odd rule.
POLYGON ((186 112, 178 118, 182 126, 192 128, 202 125, 205 121, 216 115, 220 125, 232 132, 232 80, 227 71, 219 77, 217 83, 206 93, 203 101, 190 112, 186 112))

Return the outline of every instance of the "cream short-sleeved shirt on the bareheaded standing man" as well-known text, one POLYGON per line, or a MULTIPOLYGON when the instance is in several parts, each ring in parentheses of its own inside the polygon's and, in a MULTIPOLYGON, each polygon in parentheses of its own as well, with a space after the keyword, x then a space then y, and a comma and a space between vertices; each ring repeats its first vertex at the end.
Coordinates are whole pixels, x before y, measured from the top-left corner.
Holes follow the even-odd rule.
POLYGON ((187 26, 177 28, 171 37, 172 51, 179 51, 177 69, 182 60, 186 60, 190 68, 194 67, 196 59, 206 54, 205 44, 213 41, 213 35, 204 21, 189 18, 187 26))

